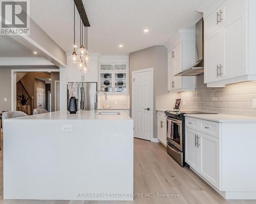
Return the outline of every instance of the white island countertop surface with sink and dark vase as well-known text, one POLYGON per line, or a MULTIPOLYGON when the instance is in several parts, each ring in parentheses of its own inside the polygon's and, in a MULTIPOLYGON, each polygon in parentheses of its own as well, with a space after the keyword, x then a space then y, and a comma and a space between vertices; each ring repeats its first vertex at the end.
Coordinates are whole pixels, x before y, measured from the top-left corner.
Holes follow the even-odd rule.
POLYGON ((96 111, 78 111, 76 114, 70 114, 68 111, 55 111, 37 115, 29 115, 6 120, 132 120, 124 111, 115 110, 96 110, 96 111), (99 112, 120 112, 118 115, 99 115, 99 112))

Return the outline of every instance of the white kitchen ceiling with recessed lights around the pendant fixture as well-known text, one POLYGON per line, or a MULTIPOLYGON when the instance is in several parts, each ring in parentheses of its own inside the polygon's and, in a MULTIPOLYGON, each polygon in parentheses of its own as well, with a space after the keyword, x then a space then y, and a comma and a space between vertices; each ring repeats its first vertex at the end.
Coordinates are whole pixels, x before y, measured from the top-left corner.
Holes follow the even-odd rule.
MULTIPOLYGON (((163 45, 179 29, 189 28, 201 15, 203 0, 83 0, 91 27, 89 52, 126 55, 163 45), (149 29, 143 33, 143 29, 149 29), (123 44, 122 48, 118 45, 123 44)), ((30 1, 30 16, 63 49, 73 49, 73 0, 30 1)), ((77 41, 79 17, 76 11, 77 41)))

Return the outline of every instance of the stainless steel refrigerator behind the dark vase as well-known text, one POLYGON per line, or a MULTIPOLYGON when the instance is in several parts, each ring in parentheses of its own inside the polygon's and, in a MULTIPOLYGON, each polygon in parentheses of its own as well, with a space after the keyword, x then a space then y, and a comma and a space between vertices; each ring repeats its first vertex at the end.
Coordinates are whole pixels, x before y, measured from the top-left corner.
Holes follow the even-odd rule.
MULTIPOLYGON (((97 82, 80 82, 77 88, 78 110, 94 110, 94 94, 97 91, 97 82)), ((70 94, 68 91, 68 107, 70 94)), ((97 100, 97 97, 96 97, 97 100)))

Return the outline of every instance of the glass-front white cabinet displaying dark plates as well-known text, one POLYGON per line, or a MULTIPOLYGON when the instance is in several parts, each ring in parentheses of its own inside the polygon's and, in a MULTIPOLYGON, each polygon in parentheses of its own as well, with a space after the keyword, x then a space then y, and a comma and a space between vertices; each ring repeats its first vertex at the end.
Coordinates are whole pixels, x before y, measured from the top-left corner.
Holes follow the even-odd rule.
POLYGON ((100 89, 110 93, 128 92, 128 65, 127 64, 99 64, 100 89))

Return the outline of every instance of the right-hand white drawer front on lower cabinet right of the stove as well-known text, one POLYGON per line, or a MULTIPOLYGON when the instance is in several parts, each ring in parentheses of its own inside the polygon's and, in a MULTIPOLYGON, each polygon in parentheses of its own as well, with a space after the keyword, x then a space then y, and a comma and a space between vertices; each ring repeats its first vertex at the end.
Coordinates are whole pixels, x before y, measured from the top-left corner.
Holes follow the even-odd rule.
POLYGON ((220 123, 201 120, 199 131, 220 138, 220 123))

